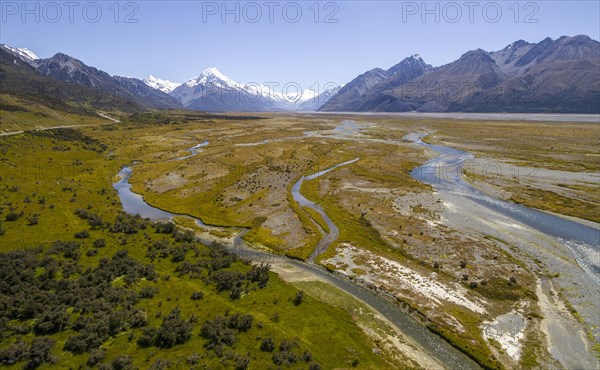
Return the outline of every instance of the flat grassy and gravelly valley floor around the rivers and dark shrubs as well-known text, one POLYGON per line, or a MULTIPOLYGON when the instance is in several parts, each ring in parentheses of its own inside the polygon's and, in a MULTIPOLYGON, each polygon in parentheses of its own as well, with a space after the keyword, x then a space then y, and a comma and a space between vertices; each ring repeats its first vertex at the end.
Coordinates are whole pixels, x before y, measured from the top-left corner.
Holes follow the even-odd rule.
MULTIPOLYGON (((50 248, 52 240, 72 239, 89 229, 94 238, 105 238, 114 246, 100 249, 99 256, 82 256, 83 266, 93 266, 100 256, 110 257, 109 251, 125 246, 136 259, 170 276, 171 282, 157 283, 166 307, 174 306, 165 302, 167 295, 179 301, 183 292, 187 299, 194 289, 202 289, 214 302, 215 312, 227 307, 253 314, 278 338, 296 337, 299 347, 311 351, 314 362, 326 368, 451 367, 444 360, 448 357, 440 355, 441 347, 435 353, 376 303, 331 285, 333 277, 393 303, 394 310, 466 354, 470 360, 465 363, 507 369, 598 366, 600 289, 595 272, 581 268, 581 256, 568 243, 413 178, 414 168, 438 154, 407 140, 408 134, 421 134, 428 143, 473 154, 471 166, 459 168, 458 175, 494 198, 598 228, 597 124, 300 113, 177 116, 170 124, 153 122, 155 117, 150 116, 135 121, 113 114, 103 117, 114 118, 109 124, 81 126, 77 131, 0 138, 4 252, 50 248), (78 131, 85 136, 73 133, 78 131), (346 164, 302 182, 301 194, 323 213, 296 202, 292 185, 302 176, 341 163, 346 164), (109 228, 90 228, 75 216, 76 209, 84 208, 105 220, 117 217, 121 203, 112 184, 124 166, 133 169, 131 190, 147 204, 177 214, 173 219, 183 230, 205 242, 230 248, 243 244, 282 256, 268 261, 276 280, 257 293, 246 284, 245 295, 230 300, 227 290, 208 284, 210 279, 181 275, 180 265, 167 263, 166 258, 149 260, 146 248, 160 239, 159 233, 115 234, 109 228), (17 215, 15 220, 12 214, 17 215), (190 217, 203 224, 198 226, 190 217), (302 268, 295 261, 307 260, 317 245, 323 245, 319 242, 331 233, 332 225, 338 229, 336 237, 315 258, 329 272, 302 268), (299 291, 306 293, 308 304, 290 303, 299 291), (273 302, 267 302, 269 294, 275 297, 273 302), (344 316, 335 319, 323 313, 327 310, 344 316), (299 317, 305 319, 291 324, 299 317), (318 348, 317 329, 302 330, 302 325, 322 325, 326 333, 317 330, 317 334, 331 337, 334 323, 343 330, 335 334, 338 345, 318 348), (344 333, 347 339, 341 339, 344 333)), ((86 240, 80 242, 93 249, 86 240)), ((586 258, 592 266, 600 264, 600 246, 590 247, 586 258)), ((242 264, 232 269, 245 271, 242 264)), ((138 307, 149 314, 155 311, 143 303, 138 307)), ((190 307, 183 313, 200 317, 193 326, 195 339, 189 343, 206 346, 198 332, 211 314, 190 307)), ((150 321, 160 325, 159 317, 150 321)), ((35 323, 11 320, 13 329, 35 323)), ((0 347, 16 343, 18 335, 13 333, 2 339, 0 347)), ((51 337, 64 344, 69 333, 51 337)), ((126 343, 123 336, 135 339, 142 330, 123 328, 122 333, 111 341, 126 343)), ((277 364, 271 363, 270 353, 258 349, 260 343, 252 344, 242 333, 237 336, 238 348, 231 347, 237 357, 215 353, 204 363, 230 361, 227 366, 233 366, 233 358, 247 352, 250 364, 277 364)), ((34 335, 24 337, 31 340, 34 335)), ((102 346, 109 359, 119 353, 111 343, 102 346)), ((87 361, 61 348, 54 350, 57 361, 87 361)), ((129 343, 124 348, 135 354, 136 366, 144 367, 142 357, 150 356, 154 347, 129 343)), ((176 363, 174 358, 168 360, 176 363)))

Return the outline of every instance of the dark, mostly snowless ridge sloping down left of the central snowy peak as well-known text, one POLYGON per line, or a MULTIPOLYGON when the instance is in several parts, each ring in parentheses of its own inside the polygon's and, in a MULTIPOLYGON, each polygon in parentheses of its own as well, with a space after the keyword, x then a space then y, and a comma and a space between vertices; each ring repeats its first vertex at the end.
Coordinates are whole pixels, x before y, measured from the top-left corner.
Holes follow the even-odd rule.
POLYGON ((151 108, 180 108, 181 105, 160 90, 153 89, 143 81, 108 73, 90 67, 82 61, 63 53, 34 62, 37 71, 57 80, 100 89, 112 96, 130 100, 151 108))

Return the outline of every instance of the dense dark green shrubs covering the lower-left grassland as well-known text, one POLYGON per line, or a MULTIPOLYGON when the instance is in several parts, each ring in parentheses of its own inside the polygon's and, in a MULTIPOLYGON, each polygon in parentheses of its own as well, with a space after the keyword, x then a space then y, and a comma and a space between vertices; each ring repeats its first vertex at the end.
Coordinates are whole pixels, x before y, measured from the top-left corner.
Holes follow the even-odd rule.
MULTIPOLYGON (((76 213, 94 227, 111 233, 135 234, 150 225, 139 216, 123 213, 112 224, 98 222, 98 216, 91 212, 78 209, 76 213)), ((268 265, 248 267, 247 261, 238 261, 224 247, 202 245, 172 223, 152 226, 156 235, 162 236, 148 241, 146 256, 151 261, 164 258, 176 262, 175 272, 179 276, 193 275, 206 286, 215 286, 217 292, 229 292, 232 300, 268 285, 268 265)), ((91 247, 86 254, 93 256, 98 254, 97 249, 105 248, 105 242, 96 239, 91 247)), ((56 241, 49 249, 16 250, 0 255, 0 332, 3 343, 10 342, 0 350, 3 364, 24 363, 24 368, 36 368, 56 362, 52 355, 56 340, 51 336, 68 333, 62 349, 75 355, 87 353, 87 364, 96 365, 104 358, 102 346, 124 332, 129 333, 130 340, 136 338, 140 347, 157 348, 171 348, 199 335, 205 339, 205 348, 225 363, 231 359, 240 369, 250 364, 247 354, 235 353, 233 349, 238 333, 252 328, 252 314, 227 310, 223 316, 199 325, 195 314, 184 317, 176 306, 161 319, 160 325, 150 325, 148 313, 141 307, 159 289, 157 283, 161 277, 154 266, 120 249, 110 258, 101 258, 96 266, 84 267, 79 263, 81 252, 82 244, 78 241, 56 241), (142 281, 151 285, 139 288, 142 281), (198 326, 200 330, 196 330, 198 326)), ((180 299, 198 301, 203 297, 202 292, 194 292, 180 299)), ((272 338, 265 340, 271 342, 272 338)), ((299 361, 300 355, 293 351, 300 348, 299 344, 287 343, 287 340, 282 342, 281 350, 272 355, 275 364, 293 365, 299 361)), ((264 347, 262 352, 273 352, 264 347)), ((318 368, 309 353, 305 350, 302 358, 312 368, 318 368)), ((201 358, 191 361, 198 362, 201 358)), ((119 368, 120 362, 127 361, 117 357, 112 368, 119 368)))

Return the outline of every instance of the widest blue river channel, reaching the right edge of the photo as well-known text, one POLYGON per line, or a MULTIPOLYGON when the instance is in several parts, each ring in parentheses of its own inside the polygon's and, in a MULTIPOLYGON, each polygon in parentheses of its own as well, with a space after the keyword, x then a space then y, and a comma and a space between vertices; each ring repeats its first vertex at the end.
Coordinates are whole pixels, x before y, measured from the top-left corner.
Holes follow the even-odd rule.
POLYGON ((552 236, 567 246, 588 275, 600 281, 600 230, 520 204, 492 198, 473 188, 462 177, 462 166, 473 155, 458 149, 424 143, 424 135, 407 135, 417 145, 433 149, 440 155, 415 168, 413 178, 445 191, 470 199, 492 211, 552 236))

